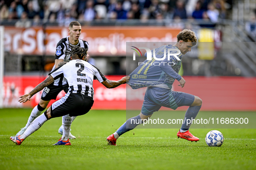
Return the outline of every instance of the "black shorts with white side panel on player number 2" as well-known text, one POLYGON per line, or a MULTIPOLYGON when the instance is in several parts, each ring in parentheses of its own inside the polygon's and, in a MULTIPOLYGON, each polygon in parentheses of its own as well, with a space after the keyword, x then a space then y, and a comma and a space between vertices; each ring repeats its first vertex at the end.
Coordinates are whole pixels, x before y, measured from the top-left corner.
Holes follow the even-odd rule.
POLYGON ((68 92, 51 106, 51 117, 80 116, 86 114, 94 103, 92 98, 85 97, 81 93, 68 92))

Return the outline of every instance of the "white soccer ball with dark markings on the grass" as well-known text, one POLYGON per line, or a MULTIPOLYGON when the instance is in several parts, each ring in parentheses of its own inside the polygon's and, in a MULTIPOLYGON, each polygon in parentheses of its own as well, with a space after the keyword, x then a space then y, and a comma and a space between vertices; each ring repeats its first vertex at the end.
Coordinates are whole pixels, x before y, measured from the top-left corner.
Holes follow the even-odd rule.
POLYGON ((205 137, 205 142, 208 146, 221 146, 223 144, 224 137, 220 131, 211 130, 205 137))

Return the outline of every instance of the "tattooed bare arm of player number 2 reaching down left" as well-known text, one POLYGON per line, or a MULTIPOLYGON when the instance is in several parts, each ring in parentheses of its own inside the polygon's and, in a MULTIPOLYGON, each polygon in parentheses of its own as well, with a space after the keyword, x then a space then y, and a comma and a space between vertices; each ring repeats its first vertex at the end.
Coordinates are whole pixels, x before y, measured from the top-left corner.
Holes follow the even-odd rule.
POLYGON ((37 92, 41 91, 43 88, 48 86, 54 81, 53 77, 50 75, 48 76, 43 82, 41 82, 39 85, 37 85, 32 91, 30 91, 27 94, 24 94, 23 96, 20 96, 19 103, 25 103, 26 101, 30 101, 30 98, 36 94, 37 92))

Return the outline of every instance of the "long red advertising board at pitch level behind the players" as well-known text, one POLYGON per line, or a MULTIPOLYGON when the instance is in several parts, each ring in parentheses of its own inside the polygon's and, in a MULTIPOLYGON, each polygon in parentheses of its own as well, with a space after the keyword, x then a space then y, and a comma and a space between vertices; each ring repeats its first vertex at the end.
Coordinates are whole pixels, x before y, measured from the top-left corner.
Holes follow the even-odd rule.
MULTIPOLYGON (((119 80, 123 76, 106 76, 110 80, 119 80)), ((3 79, 4 107, 34 107, 39 103, 42 91, 35 94, 31 101, 19 103, 19 96, 28 93, 42 82, 45 77, 40 76, 5 76, 3 79)), ((256 78, 243 77, 190 77, 184 76, 186 85, 173 84, 174 91, 182 91, 200 97, 203 101, 201 110, 256 110, 256 78)), ((94 80, 94 106, 92 109, 140 110, 143 104, 146 88, 133 90, 129 85, 117 88, 105 88, 94 80)), ((65 92, 58 94, 57 100, 65 92)), ((52 100, 52 104, 55 100, 52 100)), ((172 110, 162 107, 162 110, 172 110)), ((187 110, 179 107, 177 110, 187 110)))

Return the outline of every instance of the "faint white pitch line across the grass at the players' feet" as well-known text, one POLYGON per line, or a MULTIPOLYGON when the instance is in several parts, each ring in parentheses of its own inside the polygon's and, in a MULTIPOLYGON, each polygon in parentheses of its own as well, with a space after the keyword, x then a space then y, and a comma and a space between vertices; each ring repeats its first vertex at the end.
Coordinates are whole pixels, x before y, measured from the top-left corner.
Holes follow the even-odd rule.
MULTIPOLYGON (((56 137, 59 138, 61 135, 56 135, 56 136, 36 136, 36 137, 42 137, 42 138, 52 138, 52 137, 56 137)), ((0 137, 10 137, 10 135, 0 135, 0 137)), ((107 138, 107 136, 103 137, 103 136, 80 136, 82 138, 107 138)), ((131 139, 177 139, 177 138, 163 138, 163 137, 137 137, 137 136, 126 136, 126 137, 120 137, 120 138, 131 138, 131 139)), ((249 141, 255 141, 256 139, 241 139, 241 138, 224 138, 224 140, 249 140, 249 141)))

